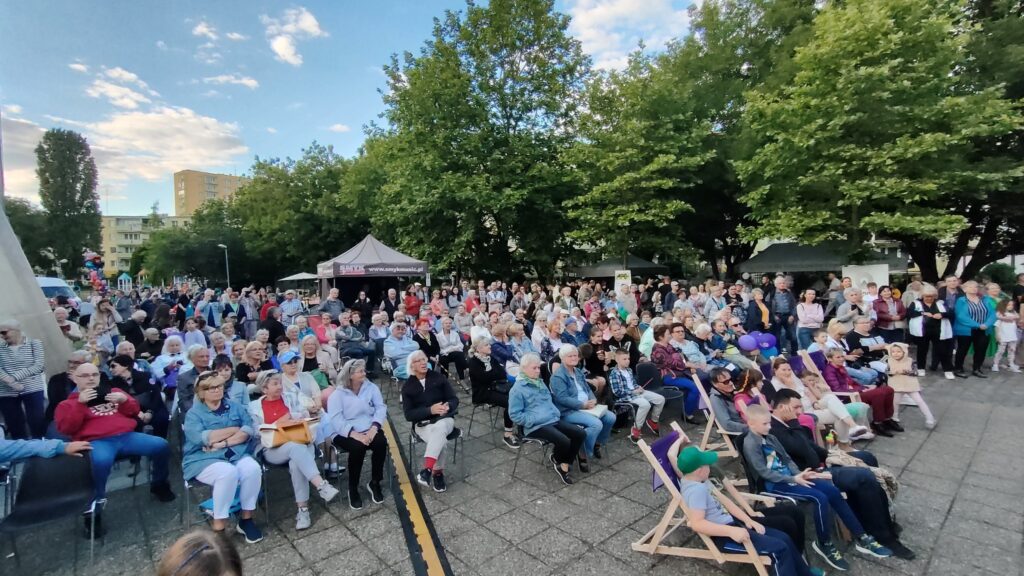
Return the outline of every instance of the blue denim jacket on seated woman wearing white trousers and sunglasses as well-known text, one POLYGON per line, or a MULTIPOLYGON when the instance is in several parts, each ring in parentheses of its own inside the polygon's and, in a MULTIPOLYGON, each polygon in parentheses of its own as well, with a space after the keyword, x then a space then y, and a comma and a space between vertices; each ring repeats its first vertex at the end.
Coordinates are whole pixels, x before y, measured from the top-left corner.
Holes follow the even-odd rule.
POLYGON ((227 400, 221 402, 227 409, 219 414, 211 412, 202 402, 193 404, 191 409, 185 414, 185 445, 181 455, 181 475, 188 480, 199 476, 214 462, 237 462, 243 456, 252 454, 256 433, 253 429, 252 418, 249 417, 249 407, 227 400), (239 426, 248 434, 249 442, 220 450, 203 451, 203 448, 210 444, 211 431, 232 426, 239 426))

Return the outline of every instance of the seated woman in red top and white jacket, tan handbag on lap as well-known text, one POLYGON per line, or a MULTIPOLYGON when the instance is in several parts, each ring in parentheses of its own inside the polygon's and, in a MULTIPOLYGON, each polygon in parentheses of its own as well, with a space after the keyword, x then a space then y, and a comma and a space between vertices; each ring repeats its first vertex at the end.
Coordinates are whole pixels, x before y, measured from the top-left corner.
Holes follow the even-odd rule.
POLYGON ((275 444, 273 430, 260 429, 264 424, 287 426, 304 423, 309 426, 309 410, 298 388, 283 385, 281 374, 273 370, 261 372, 256 379, 256 386, 263 396, 249 403, 249 416, 252 418, 253 427, 260 430, 263 459, 271 464, 288 464, 292 475, 295 503, 299 508, 295 517, 295 529, 305 530, 311 525, 309 485, 312 484, 316 488, 316 492, 325 502, 333 500, 338 495, 338 490, 319 475, 312 434, 308 443, 275 444))

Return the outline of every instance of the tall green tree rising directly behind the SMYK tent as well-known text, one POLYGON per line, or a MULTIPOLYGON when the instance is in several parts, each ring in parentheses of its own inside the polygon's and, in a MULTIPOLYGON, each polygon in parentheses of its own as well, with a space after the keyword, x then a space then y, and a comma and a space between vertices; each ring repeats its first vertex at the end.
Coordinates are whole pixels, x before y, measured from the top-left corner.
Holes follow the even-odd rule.
POLYGON ((562 153, 589 70, 552 0, 468 2, 386 67, 383 240, 442 270, 548 274, 568 250, 562 153))

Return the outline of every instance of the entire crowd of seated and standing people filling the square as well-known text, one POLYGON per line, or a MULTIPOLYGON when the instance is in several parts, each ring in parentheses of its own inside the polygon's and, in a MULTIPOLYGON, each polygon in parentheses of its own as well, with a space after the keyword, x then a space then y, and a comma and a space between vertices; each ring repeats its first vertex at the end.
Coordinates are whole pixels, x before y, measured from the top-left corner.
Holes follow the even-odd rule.
MULTIPOLYGON (((237 509, 236 530, 253 543, 263 537, 253 519, 263 466, 288 468, 297 530, 311 524, 310 486, 325 502, 338 495, 332 481, 344 452, 349 505, 362 507, 364 494, 383 502, 382 387, 391 379, 423 450, 416 481, 443 492, 447 448, 462 434, 457 389, 474 406, 501 411, 509 449, 549 443, 552 468, 571 485, 573 465, 588 474, 613 428, 628 428, 633 442, 658 434, 667 400, 647 389, 641 372, 649 368, 657 388, 680 392, 688 421, 703 417, 698 386, 710 393, 714 417, 745 435, 745 464, 764 488, 817 507, 812 547, 844 570, 828 535, 831 513, 858 551, 912 557, 888 521, 887 493, 872 476, 882 468, 852 444, 902 431, 904 404, 936 425, 922 395, 926 367, 966 378, 971 356, 974 377, 986 377, 987 358, 991 371, 1019 372, 1022 300, 1024 275, 1009 295, 952 277, 938 286, 914 280, 904 290, 861 290, 835 275, 800 294, 783 275, 756 286, 666 277, 618 290, 595 281, 463 281, 429 291, 415 283, 380 300, 360 292, 348 304, 332 289, 314 306, 294 291, 254 287, 116 292, 96 298, 84 325, 74 311, 54 310, 74 352, 67 371, 48 381, 41 341, 0 321, 0 413, 15 441, 55 439, 35 452, 11 449, 15 455, 91 452, 100 501, 115 461, 132 457, 148 459, 153 494, 173 500, 167 439, 179 430, 183 477, 212 488, 212 529, 226 530, 237 509), (751 347, 751 334, 773 341, 751 347), (800 351, 821 353, 822 369, 800 362, 797 373, 800 351), (822 448, 821 426, 840 450, 822 448), (840 490, 849 501, 837 499, 840 490)), ((696 464, 710 457, 683 452, 690 455, 685 465, 679 456, 683 492, 697 494, 687 496, 691 507, 702 502, 711 523, 735 522, 693 487, 706 480, 696 464)), ((803 541, 793 543, 803 549, 803 541)))

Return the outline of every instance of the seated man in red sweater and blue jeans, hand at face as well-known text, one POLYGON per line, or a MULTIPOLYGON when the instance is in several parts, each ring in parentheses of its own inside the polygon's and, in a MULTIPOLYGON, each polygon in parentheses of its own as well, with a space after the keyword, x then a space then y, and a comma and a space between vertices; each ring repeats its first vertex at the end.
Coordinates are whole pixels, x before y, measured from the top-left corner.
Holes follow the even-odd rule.
MULTIPOLYGON (((106 496, 106 479, 118 456, 148 456, 153 463, 150 492, 161 502, 170 502, 174 493, 167 483, 167 441, 134 431, 139 406, 131 395, 100 382, 99 370, 82 364, 71 374, 77 389, 57 405, 54 413, 57 431, 73 441, 92 445, 92 479, 96 500, 106 496)), ((97 530, 99 527, 97 517, 97 530)))

